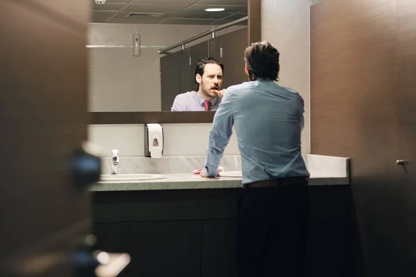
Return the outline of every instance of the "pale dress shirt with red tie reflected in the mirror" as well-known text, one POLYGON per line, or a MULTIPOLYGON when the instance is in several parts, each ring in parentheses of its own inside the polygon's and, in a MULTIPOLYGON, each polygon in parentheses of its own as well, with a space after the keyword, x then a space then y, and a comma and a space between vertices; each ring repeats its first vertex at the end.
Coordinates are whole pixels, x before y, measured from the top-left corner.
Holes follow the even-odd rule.
MULTIPOLYGON (((188 91, 186 93, 180 93, 175 97, 171 111, 205 111, 204 107, 205 99, 198 93, 198 91, 188 91)), ((210 111, 216 111, 218 105, 220 105, 221 98, 214 97, 211 100, 210 111)))

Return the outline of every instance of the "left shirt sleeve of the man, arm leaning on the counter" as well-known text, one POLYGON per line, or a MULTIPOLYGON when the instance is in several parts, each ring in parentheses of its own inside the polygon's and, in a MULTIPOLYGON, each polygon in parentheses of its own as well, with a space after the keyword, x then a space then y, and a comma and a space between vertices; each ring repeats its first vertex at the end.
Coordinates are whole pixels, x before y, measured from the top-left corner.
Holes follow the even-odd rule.
POLYGON ((208 177, 216 177, 217 175, 224 149, 232 135, 233 124, 232 93, 227 91, 218 106, 212 128, 209 130, 209 144, 205 154, 205 173, 208 177))

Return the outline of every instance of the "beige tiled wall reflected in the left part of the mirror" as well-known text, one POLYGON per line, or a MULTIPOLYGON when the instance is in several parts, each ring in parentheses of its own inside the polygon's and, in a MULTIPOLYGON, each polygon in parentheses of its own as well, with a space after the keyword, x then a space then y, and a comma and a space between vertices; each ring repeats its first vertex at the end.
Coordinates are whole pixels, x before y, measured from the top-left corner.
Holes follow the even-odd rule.
MULTIPOLYGON (((168 24, 89 24, 89 111, 160 111, 160 63, 157 51, 213 26, 168 24), (140 34, 139 56, 132 35, 140 34), (108 48, 103 46, 118 46, 108 48)), ((233 26, 217 35, 243 28, 233 26)), ((203 39, 189 45, 196 44, 203 39)), ((189 46, 187 45, 187 46, 189 46)), ((175 51, 179 48, 175 49, 175 51)), ((185 92, 185 91, 184 91, 185 92)))

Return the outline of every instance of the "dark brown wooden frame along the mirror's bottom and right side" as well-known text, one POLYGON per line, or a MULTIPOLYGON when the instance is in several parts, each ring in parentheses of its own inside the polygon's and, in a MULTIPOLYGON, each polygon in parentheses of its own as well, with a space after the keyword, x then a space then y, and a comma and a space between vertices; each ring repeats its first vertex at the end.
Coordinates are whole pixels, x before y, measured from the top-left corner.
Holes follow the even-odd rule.
MULTIPOLYGON (((261 0, 248 3, 248 46, 261 40, 261 0)), ((89 124, 212 123, 215 111, 89 111, 89 124)))

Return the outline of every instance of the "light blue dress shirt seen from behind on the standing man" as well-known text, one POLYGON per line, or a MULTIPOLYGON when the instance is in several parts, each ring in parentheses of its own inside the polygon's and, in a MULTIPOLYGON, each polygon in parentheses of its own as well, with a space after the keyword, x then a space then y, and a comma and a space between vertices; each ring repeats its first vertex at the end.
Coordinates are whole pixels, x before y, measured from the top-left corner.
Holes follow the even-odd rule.
POLYGON ((229 87, 209 131, 205 172, 215 177, 235 126, 243 186, 284 177, 309 177, 302 158, 304 100, 270 80, 229 87))

